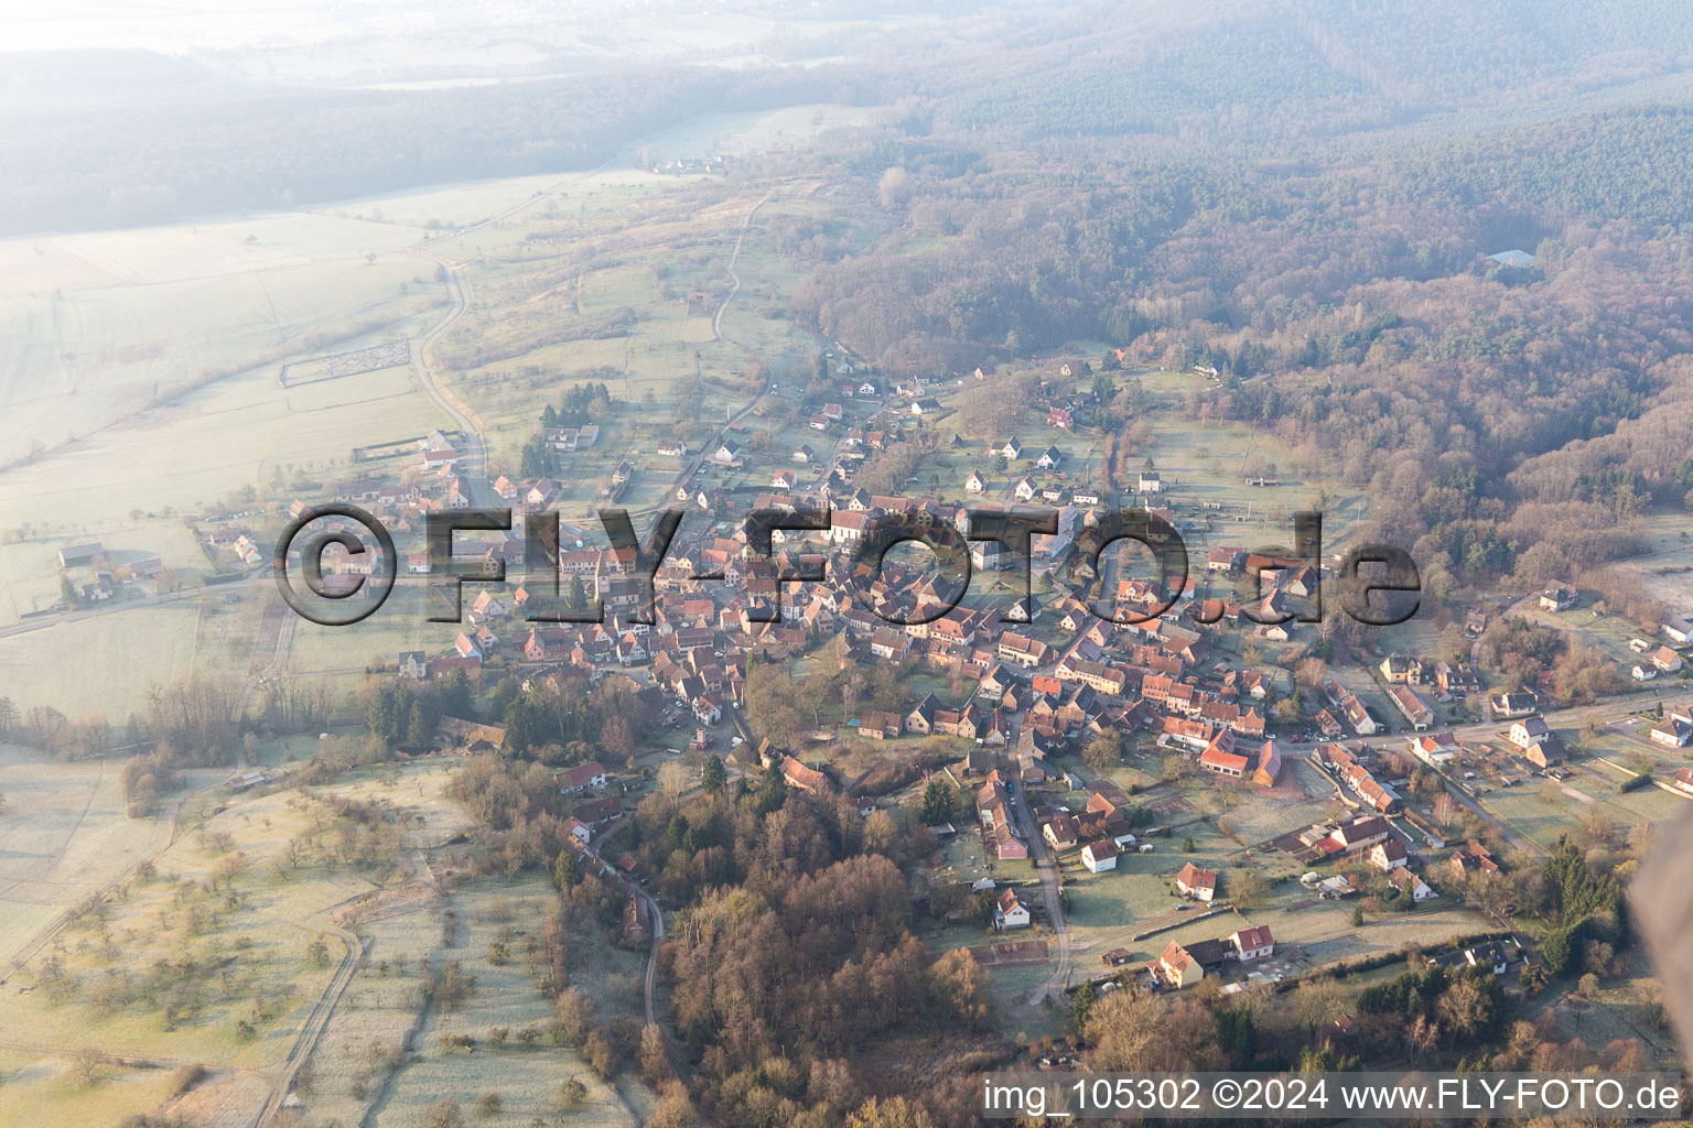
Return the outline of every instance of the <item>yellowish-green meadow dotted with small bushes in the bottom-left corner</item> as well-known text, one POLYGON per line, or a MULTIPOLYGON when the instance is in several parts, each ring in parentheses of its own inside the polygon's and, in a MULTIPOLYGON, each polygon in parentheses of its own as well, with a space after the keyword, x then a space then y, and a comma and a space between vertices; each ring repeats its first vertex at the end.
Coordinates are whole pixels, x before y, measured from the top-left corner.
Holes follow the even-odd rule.
MULTIPOLYGON (((81 766, 54 776, 74 769, 81 766)), ((344 956, 356 956, 362 944, 383 945, 379 928, 354 940, 344 923, 362 930, 362 915, 418 896, 427 890, 422 851, 462 830, 462 812, 440 790, 449 771, 449 764, 422 763, 354 776, 312 800, 286 790, 215 793, 218 802, 157 856, 154 873, 135 874, 105 910, 81 913, 29 961, 17 991, 0 993, 0 1028, 29 1032, 10 1033, 7 1049, 30 1059, 7 1077, 5 1094, 59 1099, 66 1082, 54 1062, 69 1055, 66 1047, 237 1071, 230 1077, 278 1067, 344 956), (391 815, 372 829, 339 817, 325 800, 376 803, 391 815)), ((49 800, 30 805, 32 824, 51 827, 56 812, 74 805, 74 797, 49 800)), ((88 812, 98 813, 95 802, 88 812)), ((91 851, 108 857, 108 866, 137 861, 139 847, 115 835, 129 829, 130 837, 151 837, 154 827, 119 819, 108 813, 105 824, 113 829, 102 834, 102 824, 85 815, 74 851, 63 851, 66 864, 97 873, 91 851)), ((37 849, 47 847, 42 841, 37 849)), ((386 939, 415 947, 416 932, 400 928, 386 939)), ((405 998, 401 989, 384 993, 357 976, 354 991, 376 1020, 384 1005, 394 1010, 405 998)), ((73 1087, 122 1099, 122 1111, 146 1111, 159 1099, 151 1086, 120 1082, 113 1076, 73 1087)), ((262 1086, 254 1092, 237 1084, 229 1099, 262 1096, 262 1086)))

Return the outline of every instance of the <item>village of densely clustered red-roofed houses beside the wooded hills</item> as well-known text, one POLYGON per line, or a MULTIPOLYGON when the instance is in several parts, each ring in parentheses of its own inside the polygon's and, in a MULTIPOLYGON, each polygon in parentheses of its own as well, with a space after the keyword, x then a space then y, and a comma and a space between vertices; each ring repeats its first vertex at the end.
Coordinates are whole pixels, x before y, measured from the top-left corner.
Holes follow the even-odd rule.
MULTIPOLYGON (((557 455, 609 467, 596 502, 647 506, 635 511, 637 528, 642 512, 686 511, 664 560, 653 567, 606 546, 591 517, 560 521, 557 541, 538 546, 520 531, 481 541, 459 533, 457 561, 481 567, 462 582, 452 644, 391 656, 389 676, 418 683, 515 673, 528 690, 564 675, 628 678, 674 731, 667 753, 640 756, 640 771, 630 771, 633 759, 596 759, 557 773, 560 793, 582 800, 569 844, 623 888, 626 935, 648 935, 662 905, 640 890, 633 856, 599 856, 596 835, 650 786, 655 763, 686 754, 721 756, 748 780, 775 773, 791 788, 855 803, 860 817, 887 810, 906 824, 919 819, 928 783, 945 781, 957 803, 929 827, 941 847, 933 881, 968 896, 965 905, 938 898, 953 906, 931 942, 970 944, 1012 1001, 1058 998, 1082 983, 1293 981, 1380 956, 1383 945, 1397 952, 1402 915, 1426 922, 1417 944, 1463 942, 1451 959, 1500 971, 1524 959, 1520 934, 1476 888, 1507 864, 1507 847, 1524 846, 1483 797, 1530 776, 1574 791, 1544 682, 1486 692, 1470 654, 1392 651, 1329 663, 1302 683, 1295 670, 1309 665, 1312 627, 1297 612, 1332 578, 1339 553, 1300 560, 1285 548, 1219 545, 1229 531, 1222 504, 1204 494, 1183 501, 1182 485, 1153 468, 1116 490, 1109 475, 1085 470, 1097 465, 1084 423, 1097 394, 1085 391, 1094 374, 1080 362, 1065 362, 1043 386, 1036 414, 1046 438, 987 440, 972 458, 960 450, 970 443, 955 436, 948 462, 973 465, 931 496, 877 494, 857 479, 894 445, 933 443, 933 419, 950 416, 948 404, 989 374, 951 387, 885 387, 850 359, 831 364, 840 399, 799 413, 811 438, 791 452, 728 426, 696 450, 664 440, 662 462, 637 467, 594 453, 606 446, 596 424, 543 426, 538 435, 557 455), (1017 504, 1050 507, 1055 533, 1034 536, 1026 556, 994 539, 968 541, 973 575, 962 590, 933 560, 863 553, 879 521, 967 536, 972 516, 1017 504), (1126 553, 1080 558, 1078 545, 1112 506, 1197 538, 1204 548, 1190 558, 1192 575, 1160 583, 1131 578, 1126 553), (792 528, 765 529, 770 551, 742 519, 753 511, 792 516, 779 523, 792 528), (537 548, 543 560, 528 560, 537 548), (559 595, 545 590, 554 567, 559 595), (1028 600, 1024 575, 1033 578, 1028 600), (559 617, 574 622, 547 621, 559 617), (760 717, 748 717, 753 663, 907 673, 896 697, 816 705, 809 722, 772 739, 760 717), (608 780, 623 798, 604 793, 608 780), (1160 896, 1173 900, 1158 905, 1160 896), (1371 937, 1343 903, 1370 903, 1388 927, 1371 937), (1182 912, 1188 905, 1200 912, 1182 912), (970 928, 985 942, 967 940, 970 928), (1104 971, 1084 972, 1072 954, 1097 954, 1104 971)), ((335 501, 367 507, 413 539, 437 511, 562 504, 564 479, 479 479, 460 445, 460 435, 435 431, 415 441, 398 484, 364 479, 335 501)), ((1277 480, 1244 485, 1253 492, 1277 480)), ((312 504, 293 499, 284 512, 310 521, 312 504)), ((266 558, 251 521, 207 528, 208 541, 227 545, 244 567, 266 558)), ((334 550, 325 560, 334 560, 325 585, 344 590, 383 563, 334 550)), ((430 583, 430 570, 427 551, 401 550, 401 587, 430 583)), ((1534 599, 1561 612, 1578 594, 1551 585, 1534 599)), ((1488 612, 1471 611, 1468 638, 1488 624, 1488 612)), ((1663 643, 1632 649, 1642 663, 1635 687, 1679 675, 1683 627, 1668 622, 1663 643)), ((1657 720, 1634 719, 1630 739, 1679 758, 1693 715, 1657 709, 1657 720)), ((445 717, 433 746, 477 754, 503 742, 501 726, 445 717)), ((1630 790, 1635 775, 1649 778, 1639 763, 1617 771, 1630 790)), ((1693 769, 1661 766, 1649 781, 1693 798, 1693 769)))

